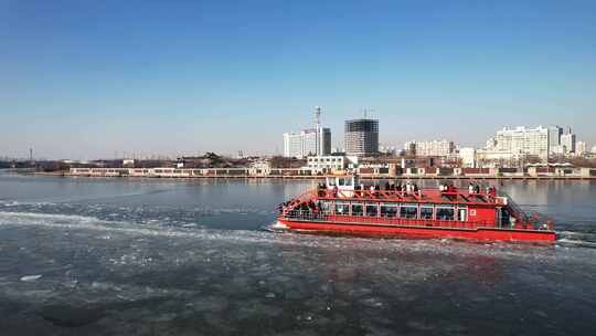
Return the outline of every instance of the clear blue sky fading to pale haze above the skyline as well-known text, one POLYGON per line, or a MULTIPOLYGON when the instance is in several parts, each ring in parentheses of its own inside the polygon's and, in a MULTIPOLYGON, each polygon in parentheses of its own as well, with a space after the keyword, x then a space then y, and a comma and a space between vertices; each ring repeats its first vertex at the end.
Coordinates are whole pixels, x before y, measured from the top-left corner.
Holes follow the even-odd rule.
POLYGON ((342 143, 596 143, 596 1, 0 0, 0 156, 274 154, 312 107, 342 143))

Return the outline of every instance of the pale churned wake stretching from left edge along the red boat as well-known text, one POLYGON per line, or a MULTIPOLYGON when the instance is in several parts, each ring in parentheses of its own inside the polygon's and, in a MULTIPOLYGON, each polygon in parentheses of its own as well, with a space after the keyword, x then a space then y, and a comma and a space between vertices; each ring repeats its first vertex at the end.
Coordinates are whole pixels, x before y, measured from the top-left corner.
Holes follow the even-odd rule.
MULTIPOLYGON (((270 228, 270 227, 269 227, 270 228)), ((540 251, 550 248, 508 244, 503 242, 473 243, 457 240, 440 239, 380 239, 371 237, 344 237, 324 234, 272 234, 270 230, 221 230, 203 227, 171 227, 161 223, 139 224, 126 221, 107 221, 94 217, 76 214, 52 214, 36 212, 3 212, 0 211, 0 230, 51 230, 51 234, 64 235, 71 241, 71 232, 81 231, 92 241, 100 239, 104 242, 130 238, 147 239, 181 239, 198 243, 213 242, 217 244, 274 246, 296 246, 298 249, 332 249, 385 252, 423 252, 432 254, 459 255, 491 255, 515 258, 520 254, 541 254, 540 251)), ((277 232, 277 231, 276 231, 277 232)), ((65 241, 66 242, 66 241, 65 241)), ((116 243, 116 241, 114 242, 116 243)), ((92 242, 93 244, 93 242, 92 242)), ((549 253, 544 254, 547 255, 549 253)))

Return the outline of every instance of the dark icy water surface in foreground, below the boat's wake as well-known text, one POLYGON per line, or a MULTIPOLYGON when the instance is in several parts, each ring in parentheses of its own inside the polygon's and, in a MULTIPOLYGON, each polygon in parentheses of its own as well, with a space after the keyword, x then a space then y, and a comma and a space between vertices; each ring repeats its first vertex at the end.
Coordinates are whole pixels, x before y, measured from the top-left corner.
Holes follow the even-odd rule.
POLYGON ((596 318, 594 249, 38 212, 0 212, 0 237, 7 335, 585 334, 596 318))

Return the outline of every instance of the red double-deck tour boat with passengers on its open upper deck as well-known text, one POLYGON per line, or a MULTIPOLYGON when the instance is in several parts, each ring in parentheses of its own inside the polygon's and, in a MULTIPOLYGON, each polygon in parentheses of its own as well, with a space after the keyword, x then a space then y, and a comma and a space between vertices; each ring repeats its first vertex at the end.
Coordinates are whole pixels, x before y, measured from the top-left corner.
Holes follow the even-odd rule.
POLYGON ((351 175, 328 176, 326 185, 280 204, 272 229, 491 241, 556 239, 551 220, 528 216, 494 188, 363 186, 351 175))

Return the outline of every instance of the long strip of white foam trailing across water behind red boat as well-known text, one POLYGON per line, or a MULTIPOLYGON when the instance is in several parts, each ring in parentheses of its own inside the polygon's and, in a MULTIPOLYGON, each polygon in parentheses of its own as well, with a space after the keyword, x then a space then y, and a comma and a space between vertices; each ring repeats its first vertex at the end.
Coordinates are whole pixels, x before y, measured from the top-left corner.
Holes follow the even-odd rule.
MULTIPOLYGON (((146 221, 149 222, 149 221, 146 221)), ((552 253, 536 246, 518 246, 515 244, 490 244, 488 246, 466 242, 440 242, 440 240, 403 240, 403 239, 369 239, 355 237, 327 237, 312 234, 279 235, 262 231, 243 230, 215 230, 198 228, 175 228, 160 225, 159 222, 139 225, 127 221, 107 221, 95 217, 76 214, 50 214, 33 212, 2 212, 0 211, 0 227, 44 227, 68 230, 93 230, 107 232, 102 239, 117 237, 123 233, 141 234, 149 237, 167 238, 192 238, 198 240, 216 240, 238 243, 267 243, 284 245, 301 245, 323 249, 359 249, 359 250, 407 250, 424 251, 428 253, 457 253, 459 255, 500 255, 500 256, 528 256, 552 258, 552 253), (119 234, 115 234, 119 233, 119 234), (503 248, 504 246, 504 248, 503 248), (456 251, 457 250, 457 251, 456 251)))

